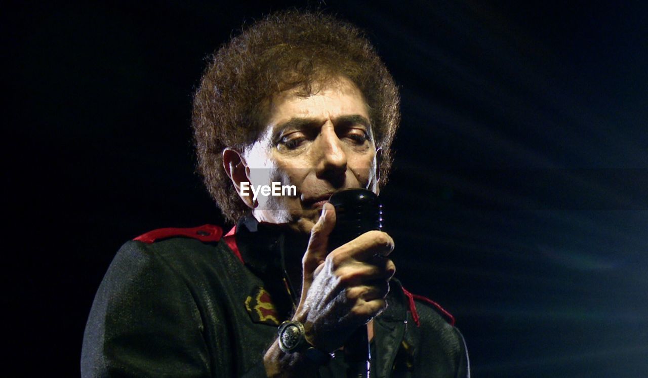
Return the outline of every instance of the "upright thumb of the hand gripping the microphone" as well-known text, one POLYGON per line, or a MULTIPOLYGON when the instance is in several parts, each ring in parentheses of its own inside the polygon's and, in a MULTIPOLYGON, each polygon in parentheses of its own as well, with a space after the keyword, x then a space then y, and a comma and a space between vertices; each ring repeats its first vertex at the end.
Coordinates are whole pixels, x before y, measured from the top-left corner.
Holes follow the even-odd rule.
POLYGON ((317 267, 324 262, 327 254, 327 247, 329 245, 330 232, 335 227, 335 208, 330 203, 325 203, 322 208, 322 214, 319 216, 318 222, 315 223, 310 231, 310 239, 308 239, 308 247, 302 259, 304 267, 304 283, 312 280, 313 273, 317 267))

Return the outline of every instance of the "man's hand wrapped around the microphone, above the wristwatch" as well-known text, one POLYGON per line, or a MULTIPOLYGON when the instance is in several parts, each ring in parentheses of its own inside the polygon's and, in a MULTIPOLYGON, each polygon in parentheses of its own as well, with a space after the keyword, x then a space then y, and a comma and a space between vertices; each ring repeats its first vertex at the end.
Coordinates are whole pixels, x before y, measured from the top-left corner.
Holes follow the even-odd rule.
POLYGON ((387 307, 389 280, 396 271, 387 258, 394 242, 385 232, 365 232, 327 252, 335 222, 335 208, 326 203, 302 260, 303 284, 294 316, 304 324, 307 340, 325 351, 340 348, 356 328, 387 307))

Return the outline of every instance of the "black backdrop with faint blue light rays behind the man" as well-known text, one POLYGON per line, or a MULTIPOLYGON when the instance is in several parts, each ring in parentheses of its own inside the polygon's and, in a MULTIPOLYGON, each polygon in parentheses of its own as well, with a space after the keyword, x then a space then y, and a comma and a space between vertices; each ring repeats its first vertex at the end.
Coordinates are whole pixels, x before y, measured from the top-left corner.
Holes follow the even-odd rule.
MULTIPOLYGON (((400 86, 381 193, 397 276, 456 316, 476 377, 648 376, 648 8, 569 3, 322 5, 400 86)), ((192 92, 232 30, 294 5, 6 6, 8 375, 78 375, 124 241, 224 225, 192 92)))

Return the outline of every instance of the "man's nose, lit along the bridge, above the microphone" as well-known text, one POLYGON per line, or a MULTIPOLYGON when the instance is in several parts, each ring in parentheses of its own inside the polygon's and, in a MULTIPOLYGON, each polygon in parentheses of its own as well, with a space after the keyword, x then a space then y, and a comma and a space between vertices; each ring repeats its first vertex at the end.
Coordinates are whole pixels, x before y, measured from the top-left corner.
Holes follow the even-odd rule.
POLYGON ((330 181, 334 186, 342 186, 347 172, 347 152, 330 122, 322 127, 316 143, 318 178, 330 181))

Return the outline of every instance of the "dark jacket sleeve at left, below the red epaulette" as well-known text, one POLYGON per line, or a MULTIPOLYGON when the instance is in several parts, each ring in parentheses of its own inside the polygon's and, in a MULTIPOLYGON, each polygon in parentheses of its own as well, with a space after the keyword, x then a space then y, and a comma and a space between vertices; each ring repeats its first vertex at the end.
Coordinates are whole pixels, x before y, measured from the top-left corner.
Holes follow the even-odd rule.
POLYGON ((82 377, 209 377, 202 330, 187 283, 150 245, 130 241, 97 291, 82 377))

